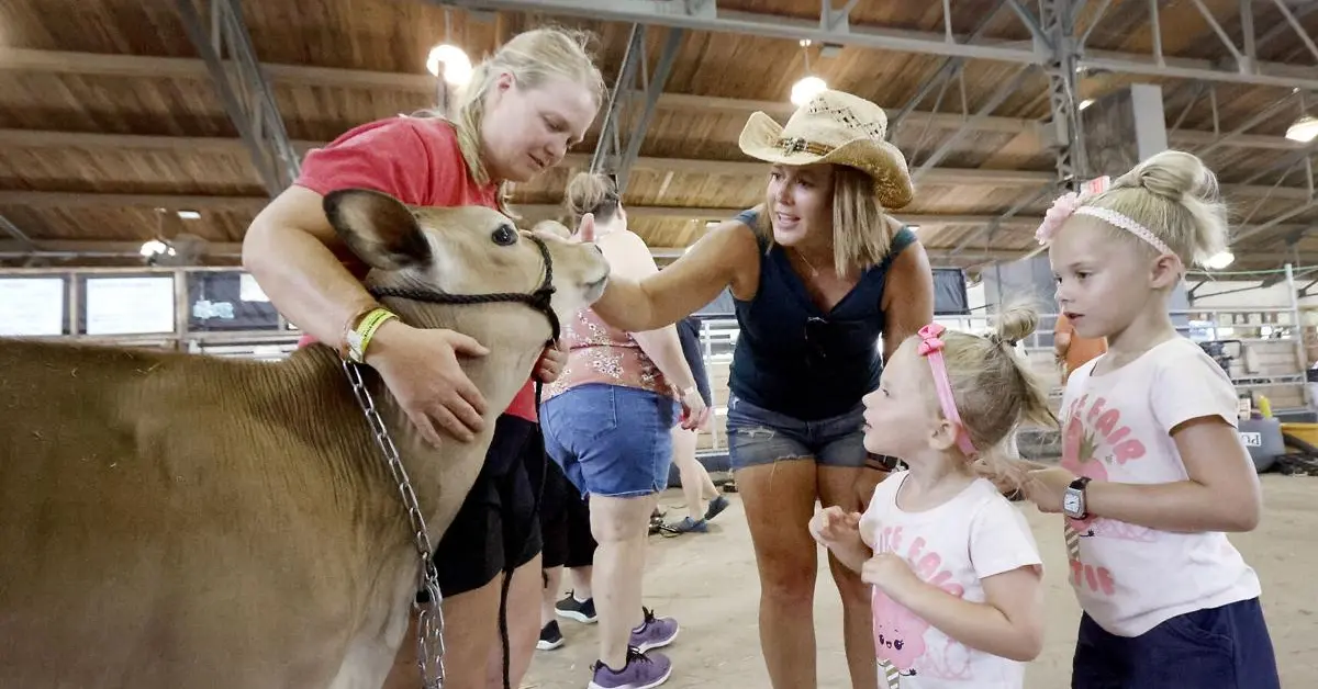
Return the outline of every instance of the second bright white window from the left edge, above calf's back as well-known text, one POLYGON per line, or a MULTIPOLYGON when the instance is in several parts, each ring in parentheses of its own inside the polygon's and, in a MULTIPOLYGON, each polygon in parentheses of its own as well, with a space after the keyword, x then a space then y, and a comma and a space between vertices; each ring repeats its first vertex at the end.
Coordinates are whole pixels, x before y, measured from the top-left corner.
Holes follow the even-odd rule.
POLYGON ((174 278, 87 278, 86 332, 174 332, 174 278))

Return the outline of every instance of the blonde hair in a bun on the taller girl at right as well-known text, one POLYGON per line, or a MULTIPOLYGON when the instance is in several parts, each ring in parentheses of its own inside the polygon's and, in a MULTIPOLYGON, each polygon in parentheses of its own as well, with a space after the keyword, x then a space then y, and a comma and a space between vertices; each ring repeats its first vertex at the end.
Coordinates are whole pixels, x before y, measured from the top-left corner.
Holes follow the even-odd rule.
MULTIPOLYGON (((1083 206, 1116 211, 1144 225, 1186 266, 1203 265, 1227 248, 1227 208, 1218 195, 1218 178, 1198 157, 1181 150, 1149 157, 1083 206)), ((1153 250, 1124 229, 1108 229, 1122 241, 1153 250)))

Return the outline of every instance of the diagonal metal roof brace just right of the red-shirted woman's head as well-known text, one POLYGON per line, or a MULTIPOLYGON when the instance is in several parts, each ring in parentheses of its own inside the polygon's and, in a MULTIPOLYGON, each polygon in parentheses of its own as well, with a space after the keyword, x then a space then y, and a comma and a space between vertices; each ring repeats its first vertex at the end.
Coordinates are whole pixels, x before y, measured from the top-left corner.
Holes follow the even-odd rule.
POLYGON ((683 33, 681 29, 668 29, 654 74, 650 74, 646 26, 643 24, 631 26, 622 69, 618 70, 617 82, 609 92, 600 142, 590 157, 590 171, 612 173, 619 192, 627 190, 631 167, 641 157, 641 144, 646 138, 646 130, 650 129, 664 84, 672 74, 673 62, 681 49, 683 33))

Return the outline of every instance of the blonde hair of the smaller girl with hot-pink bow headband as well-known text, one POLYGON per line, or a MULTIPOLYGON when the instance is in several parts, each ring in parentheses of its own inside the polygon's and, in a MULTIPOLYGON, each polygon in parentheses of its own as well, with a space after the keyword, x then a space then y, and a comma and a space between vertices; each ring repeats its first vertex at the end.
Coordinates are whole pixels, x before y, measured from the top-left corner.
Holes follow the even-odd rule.
MULTIPOLYGON (((1017 302, 1000 310, 996 328, 986 337, 956 331, 942 333, 942 358, 952 398, 970 441, 979 449, 975 470, 999 482, 999 487, 1002 482, 1020 487, 1024 478, 1004 449, 1016 427, 1023 422, 1044 428, 1058 426, 1048 403, 1048 386, 1016 353, 1016 344, 1037 327, 1039 312, 1017 302)), ((941 414, 933 385, 925 390, 929 408, 941 414)))

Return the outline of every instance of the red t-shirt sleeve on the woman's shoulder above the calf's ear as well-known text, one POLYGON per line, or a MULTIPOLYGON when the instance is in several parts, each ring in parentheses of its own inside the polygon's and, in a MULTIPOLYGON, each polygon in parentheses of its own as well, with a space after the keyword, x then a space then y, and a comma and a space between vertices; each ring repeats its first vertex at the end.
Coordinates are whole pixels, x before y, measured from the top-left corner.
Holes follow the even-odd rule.
POLYGON ((413 123, 394 117, 357 126, 307 153, 295 183, 320 195, 372 188, 413 206, 438 206, 430 198, 436 162, 413 123))

